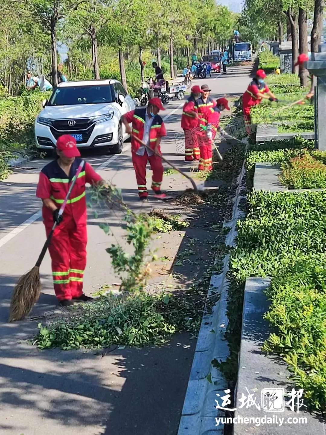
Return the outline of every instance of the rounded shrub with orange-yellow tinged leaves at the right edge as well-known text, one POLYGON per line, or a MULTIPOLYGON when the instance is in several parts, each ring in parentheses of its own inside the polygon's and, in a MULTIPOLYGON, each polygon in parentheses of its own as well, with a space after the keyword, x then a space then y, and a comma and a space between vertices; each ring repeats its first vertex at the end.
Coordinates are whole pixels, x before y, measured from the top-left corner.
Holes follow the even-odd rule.
MULTIPOLYGON (((326 156, 326 153, 324 153, 326 156)), ((281 165, 283 169, 281 182, 289 189, 320 189, 326 187, 326 165, 303 154, 290 158, 281 165)))

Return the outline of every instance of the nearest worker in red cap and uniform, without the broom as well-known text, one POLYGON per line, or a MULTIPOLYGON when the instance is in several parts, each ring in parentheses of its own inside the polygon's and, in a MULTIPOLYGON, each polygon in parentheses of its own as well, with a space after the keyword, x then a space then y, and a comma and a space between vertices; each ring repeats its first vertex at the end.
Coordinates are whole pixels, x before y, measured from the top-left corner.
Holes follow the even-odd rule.
POLYGON ((36 196, 43 202, 43 222, 46 236, 57 223, 49 254, 52 260, 53 287, 60 305, 67 307, 75 302, 92 298, 82 292, 86 267, 86 191, 85 184, 104 184, 89 163, 85 163, 62 216, 59 208, 66 197, 72 178, 82 159, 76 140, 65 134, 56 142, 58 159, 43 167, 36 196))

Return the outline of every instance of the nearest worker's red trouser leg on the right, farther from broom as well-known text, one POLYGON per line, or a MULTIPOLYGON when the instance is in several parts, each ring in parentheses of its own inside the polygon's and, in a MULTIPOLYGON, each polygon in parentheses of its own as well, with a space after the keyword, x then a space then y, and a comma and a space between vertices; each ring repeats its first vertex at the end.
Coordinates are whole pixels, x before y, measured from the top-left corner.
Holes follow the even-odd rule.
POLYGON ((86 222, 75 224, 69 231, 70 242, 70 291, 72 299, 78 299, 82 295, 84 270, 86 268, 86 222))

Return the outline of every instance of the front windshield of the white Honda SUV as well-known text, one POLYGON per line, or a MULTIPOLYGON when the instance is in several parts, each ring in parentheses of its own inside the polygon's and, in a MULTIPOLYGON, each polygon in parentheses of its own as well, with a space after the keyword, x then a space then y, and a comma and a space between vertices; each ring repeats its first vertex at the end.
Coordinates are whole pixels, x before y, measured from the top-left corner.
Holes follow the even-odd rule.
POLYGON ((113 102, 113 87, 109 84, 102 84, 57 87, 49 100, 49 105, 68 106, 72 104, 99 104, 113 102))

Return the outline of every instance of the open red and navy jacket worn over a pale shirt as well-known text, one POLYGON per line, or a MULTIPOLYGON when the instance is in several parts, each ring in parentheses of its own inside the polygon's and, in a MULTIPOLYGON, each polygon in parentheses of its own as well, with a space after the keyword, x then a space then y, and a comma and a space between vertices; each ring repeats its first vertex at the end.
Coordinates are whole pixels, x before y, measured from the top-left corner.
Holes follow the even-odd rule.
MULTIPOLYGON (((132 123, 132 133, 139 139, 142 139, 144 137, 145 117, 146 108, 132 110, 131 112, 125 114, 125 119, 127 120, 127 122, 129 124, 132 123)), ((149 132, 149 147, 152 150, 155 149, 156 141, 158 140, 158 137, 161 136, 166 136, 165 125, 162 118, 159 115, 156 115, 151 123, 151 130, 149 132)), ((136 141, 135 138, 132 137, 132 151, 136 153, 141 146, 142 145, 138 141, 136 141)), ((160 147, 158 147, 158 152, 161 152, 160 147)))

